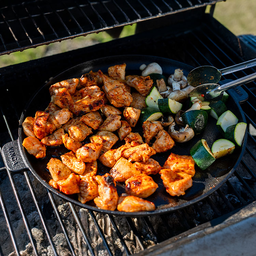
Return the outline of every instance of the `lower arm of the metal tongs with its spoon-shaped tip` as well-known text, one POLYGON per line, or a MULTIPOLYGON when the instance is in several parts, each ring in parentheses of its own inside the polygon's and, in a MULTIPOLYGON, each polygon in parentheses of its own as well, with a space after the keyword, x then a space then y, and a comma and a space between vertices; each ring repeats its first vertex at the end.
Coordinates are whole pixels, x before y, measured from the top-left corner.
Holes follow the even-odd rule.
POLYGON ((218 85, 214 83, 202 84, 197 86, 193 91, 191 91, 189 97, 197 97, 201 101, 204 101, 205 99, 219 100, 222 97, 223 91, 239 86, 241 84, 249 83, 255 79, 256 73, 253 73, 251 75, 247 75, 224 85, 218 85))

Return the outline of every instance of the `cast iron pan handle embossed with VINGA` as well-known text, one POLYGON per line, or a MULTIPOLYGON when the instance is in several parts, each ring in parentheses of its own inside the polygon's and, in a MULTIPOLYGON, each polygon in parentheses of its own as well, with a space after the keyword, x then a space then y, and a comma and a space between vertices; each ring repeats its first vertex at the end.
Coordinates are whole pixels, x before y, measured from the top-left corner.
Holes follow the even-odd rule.
POLYGON ((19 172, 28 168, 19 150, 18 140, 6 143, 2 148, 3 159, 8 170, 19 172))

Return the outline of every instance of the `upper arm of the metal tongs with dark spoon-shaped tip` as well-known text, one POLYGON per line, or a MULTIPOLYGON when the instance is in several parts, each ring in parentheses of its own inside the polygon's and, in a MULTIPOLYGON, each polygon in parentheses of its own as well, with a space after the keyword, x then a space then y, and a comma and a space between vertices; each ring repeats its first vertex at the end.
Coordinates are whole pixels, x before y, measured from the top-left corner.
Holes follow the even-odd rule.
POLYGON ((212 66, 201 66, 191 70, 187 76, 187 81, 191 86, 197 87, 201 84, 216 84, 221 80, 222 75, 233 73, 246 68, 256 66, 256 59, 248 60, 243 63, 224 68, 216 69, 212 66))

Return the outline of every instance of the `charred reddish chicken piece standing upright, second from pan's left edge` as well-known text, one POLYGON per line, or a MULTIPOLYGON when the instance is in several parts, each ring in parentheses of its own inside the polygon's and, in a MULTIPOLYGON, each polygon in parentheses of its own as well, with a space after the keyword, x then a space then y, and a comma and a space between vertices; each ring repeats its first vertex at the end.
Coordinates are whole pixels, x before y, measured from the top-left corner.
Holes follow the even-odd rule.
POLYGON ((47 132, 46 132, 46 122, 48 119, 49 113, 45 112, 45 111, 37 111, 35 113, 35 122, 34 122, 34 126, 33 126, 33 130, 34 130, 34 134, 35 136, 41 140, 43 139, 45 136, 47 136, 47 132))

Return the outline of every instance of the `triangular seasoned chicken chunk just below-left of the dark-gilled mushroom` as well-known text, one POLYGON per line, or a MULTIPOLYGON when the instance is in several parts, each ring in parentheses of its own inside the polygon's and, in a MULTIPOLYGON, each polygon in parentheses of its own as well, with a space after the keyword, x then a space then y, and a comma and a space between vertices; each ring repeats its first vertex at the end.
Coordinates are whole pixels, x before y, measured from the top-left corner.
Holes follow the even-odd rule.
POLYGON ((173 146, 174 141, 170 134, 165 130, 161 130, 158 132, 156 141, 153 143, 152 148, 154 148, 156 153, 161 153, 170 150, 173 146))

